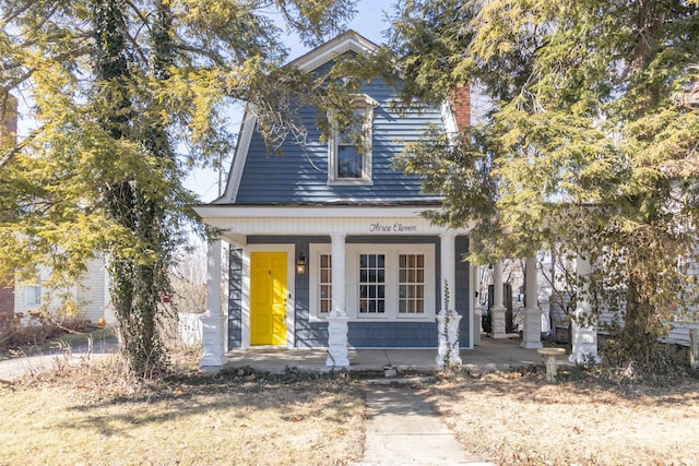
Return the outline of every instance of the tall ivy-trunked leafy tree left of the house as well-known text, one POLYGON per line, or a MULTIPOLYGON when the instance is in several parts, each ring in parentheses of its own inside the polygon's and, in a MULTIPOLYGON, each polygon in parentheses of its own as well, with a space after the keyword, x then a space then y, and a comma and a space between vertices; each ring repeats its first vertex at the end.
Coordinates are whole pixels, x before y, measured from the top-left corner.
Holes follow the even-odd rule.
POLYGON ((185 176, 232 150, 236 103, 254 106, 271 148, 304 136, 294 109, 327 108, 333 89, 282 67, 284 32, 316 44, 354 14, 353 2, 0 5, 0 100, 13 94, 33 122, 0 154, 0 276, 46 265, 58 286, 105 252, 127 369, 157 375, 167 366, 158 318, 168 266, 197 219, 185 176))

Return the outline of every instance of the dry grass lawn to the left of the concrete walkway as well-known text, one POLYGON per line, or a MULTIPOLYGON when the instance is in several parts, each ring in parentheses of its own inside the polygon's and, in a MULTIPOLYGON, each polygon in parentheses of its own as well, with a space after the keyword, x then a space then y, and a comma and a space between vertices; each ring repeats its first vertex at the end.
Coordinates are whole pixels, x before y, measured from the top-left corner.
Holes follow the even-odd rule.
POLYGON ((0 464, 332 465, 360 456, 364 402, 345 379, 192 371, 134 390, 106 365, 0 387, 0 464))

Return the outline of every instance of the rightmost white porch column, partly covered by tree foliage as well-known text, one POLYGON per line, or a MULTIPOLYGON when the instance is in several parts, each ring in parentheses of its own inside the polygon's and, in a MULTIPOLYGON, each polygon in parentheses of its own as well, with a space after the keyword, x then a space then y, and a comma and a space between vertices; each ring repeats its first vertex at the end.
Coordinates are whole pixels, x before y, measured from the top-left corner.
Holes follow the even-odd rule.
POLYGON ((597 355, 597 325, 591 321, 592 306, 590 304, 590 260, 580 255, 576 259, 576 275, 580 287, 579 300, 576 303, 576 314, 572 325, 572 350, 568 358, 570 362, 600 362, 597 355))

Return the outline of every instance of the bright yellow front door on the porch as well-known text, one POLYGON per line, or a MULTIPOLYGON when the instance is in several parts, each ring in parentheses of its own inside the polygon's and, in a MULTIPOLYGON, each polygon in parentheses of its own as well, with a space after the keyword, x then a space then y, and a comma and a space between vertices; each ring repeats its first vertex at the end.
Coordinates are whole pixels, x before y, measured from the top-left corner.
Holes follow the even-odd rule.
POLYGON ((286 252, 250 256, 250 345, 286 345, 286 252))

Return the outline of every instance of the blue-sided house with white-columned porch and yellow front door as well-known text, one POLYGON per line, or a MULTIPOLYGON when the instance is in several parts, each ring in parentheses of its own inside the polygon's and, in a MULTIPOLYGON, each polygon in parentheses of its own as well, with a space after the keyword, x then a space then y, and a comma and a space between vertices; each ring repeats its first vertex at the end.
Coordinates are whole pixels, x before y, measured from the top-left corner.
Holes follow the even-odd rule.
MULTIPOLYGON (((350 31, 291 65, 312 73, 376 48, 350 31)), ((270 156, 247 109, 224 195, 197 207, 222 232, 209 246, 203 367, 250 348, 328 348, 333 367, 351 363, 347 348, 434 348, 445 363, 478 343, 473 267, 461 259, 469 229, 433 225, 424 214, 440 198, 391 165, 428 124, 469 124, 469 99, 398 112, 396 92, 377 76, 355 96, 364 150, 342 131, 320 142, 317 110, 304 108, 307 144, 270 156)), ((530 328, 524 345, 541 347, 530 328)))

